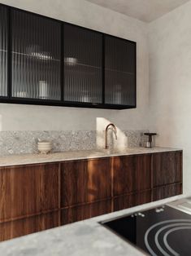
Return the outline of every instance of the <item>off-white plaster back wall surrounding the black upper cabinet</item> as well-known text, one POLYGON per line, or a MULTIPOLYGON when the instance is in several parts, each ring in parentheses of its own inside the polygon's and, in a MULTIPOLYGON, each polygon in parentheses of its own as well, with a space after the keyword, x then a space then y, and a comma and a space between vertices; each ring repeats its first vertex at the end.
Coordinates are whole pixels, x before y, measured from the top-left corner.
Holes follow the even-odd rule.
POLYGON ((96 117, 120 129, 148 129, 147 24, 84 0, 4 0, 7 5, 137 42, 137 108, 104 110, 0 104, 0 130, 96 130, 96 117))

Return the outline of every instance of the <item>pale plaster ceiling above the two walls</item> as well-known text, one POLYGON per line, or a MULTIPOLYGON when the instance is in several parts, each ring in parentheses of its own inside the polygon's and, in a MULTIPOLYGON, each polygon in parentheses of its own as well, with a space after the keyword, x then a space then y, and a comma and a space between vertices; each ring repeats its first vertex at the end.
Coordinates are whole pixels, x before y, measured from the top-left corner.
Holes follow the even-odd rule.
POLYGON ((138 20, 150 22, 189 0, 86 0, 138 20))

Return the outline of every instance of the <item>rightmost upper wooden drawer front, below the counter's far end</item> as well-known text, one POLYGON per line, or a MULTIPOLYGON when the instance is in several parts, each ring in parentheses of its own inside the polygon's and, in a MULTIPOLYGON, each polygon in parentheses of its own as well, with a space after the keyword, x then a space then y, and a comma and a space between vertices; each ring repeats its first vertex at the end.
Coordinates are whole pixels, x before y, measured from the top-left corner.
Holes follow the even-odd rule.
POLYGON ((153 154, 154 187, 182 182, 182 152, 153 154))

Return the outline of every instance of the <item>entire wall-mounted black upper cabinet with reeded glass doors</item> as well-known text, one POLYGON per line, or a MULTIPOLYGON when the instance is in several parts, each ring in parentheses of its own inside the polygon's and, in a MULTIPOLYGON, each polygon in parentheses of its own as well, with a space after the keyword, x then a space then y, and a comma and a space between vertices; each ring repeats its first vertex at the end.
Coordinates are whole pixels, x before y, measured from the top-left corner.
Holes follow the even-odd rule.
POLYGON ((136 42, 0 5, 0 101, 136 107, 136 42))

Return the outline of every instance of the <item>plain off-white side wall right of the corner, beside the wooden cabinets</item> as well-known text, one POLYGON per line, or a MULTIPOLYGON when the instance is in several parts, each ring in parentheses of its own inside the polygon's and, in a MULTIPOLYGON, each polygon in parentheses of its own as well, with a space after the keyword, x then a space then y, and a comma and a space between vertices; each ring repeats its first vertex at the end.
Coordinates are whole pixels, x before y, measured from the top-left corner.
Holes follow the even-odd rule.
POLYGON ((184 149, 191 194, 191 2, 149 25, 150 128, 159 146, 184 149))

